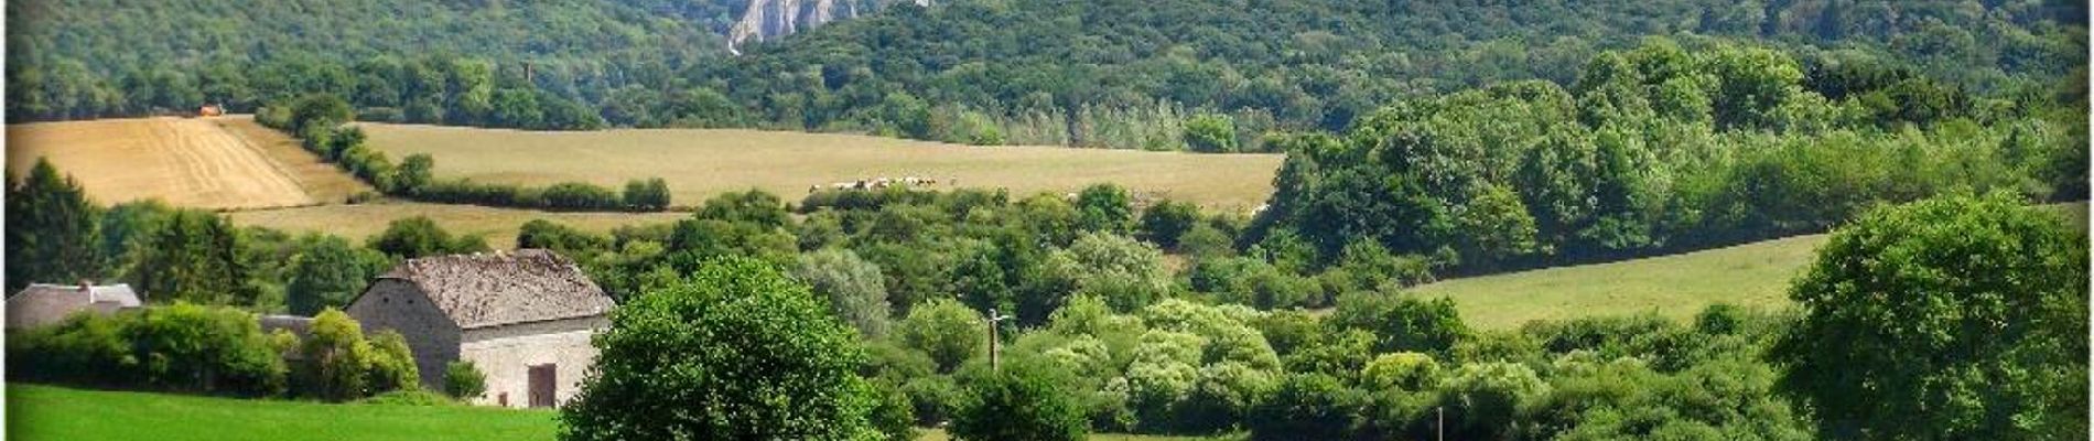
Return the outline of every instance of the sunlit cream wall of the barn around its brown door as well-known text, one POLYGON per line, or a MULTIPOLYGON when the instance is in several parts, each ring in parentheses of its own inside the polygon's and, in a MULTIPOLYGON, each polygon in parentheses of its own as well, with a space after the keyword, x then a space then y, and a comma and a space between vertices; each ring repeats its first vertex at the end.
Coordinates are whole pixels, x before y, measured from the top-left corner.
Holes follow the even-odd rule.
POLYGON ((553 364, 555 403, 567 403, 582 389, 582 376, 597 362, 588 339, 607 326, 603 316, 553 322, 473 328, 459 347, 461 359, 473 362, 488 376, 488 393, 473 399, 482 405, 530 405, 530 366, 553 364))

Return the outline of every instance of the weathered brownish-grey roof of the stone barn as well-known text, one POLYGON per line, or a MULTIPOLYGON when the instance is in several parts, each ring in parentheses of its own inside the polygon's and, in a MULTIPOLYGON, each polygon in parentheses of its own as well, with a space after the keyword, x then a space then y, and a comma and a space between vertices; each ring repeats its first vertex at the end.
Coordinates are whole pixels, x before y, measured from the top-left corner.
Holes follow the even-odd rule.
POLYGON ((419 286, 459 328, 591 318, 614 305, 582 268, 542 249, 408 259, 379 278, 419 286))

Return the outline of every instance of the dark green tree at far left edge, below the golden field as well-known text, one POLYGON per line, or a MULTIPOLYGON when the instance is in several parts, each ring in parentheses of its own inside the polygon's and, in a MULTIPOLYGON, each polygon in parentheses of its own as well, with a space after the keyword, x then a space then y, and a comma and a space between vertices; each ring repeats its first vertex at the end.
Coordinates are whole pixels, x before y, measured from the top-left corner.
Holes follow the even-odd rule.
POLYGON ((71 176, 38 157, 29 176, 6 180, 6 288, 71 284, 101 272, 96 207, 71 176))

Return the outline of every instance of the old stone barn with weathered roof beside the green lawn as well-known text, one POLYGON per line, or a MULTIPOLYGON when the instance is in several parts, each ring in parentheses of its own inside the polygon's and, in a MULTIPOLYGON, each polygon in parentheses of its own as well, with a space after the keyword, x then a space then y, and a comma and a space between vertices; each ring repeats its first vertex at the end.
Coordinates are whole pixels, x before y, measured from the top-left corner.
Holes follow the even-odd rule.
POLYGON ((350 303, 364 332, 398 330, 421 382, 442 391, 444 366, 473 362, 488 391, 473 403, 553 408, 580 391, 597 359, 588 339, 609 326, 611 297, 551 251, 408 259, 350 303))

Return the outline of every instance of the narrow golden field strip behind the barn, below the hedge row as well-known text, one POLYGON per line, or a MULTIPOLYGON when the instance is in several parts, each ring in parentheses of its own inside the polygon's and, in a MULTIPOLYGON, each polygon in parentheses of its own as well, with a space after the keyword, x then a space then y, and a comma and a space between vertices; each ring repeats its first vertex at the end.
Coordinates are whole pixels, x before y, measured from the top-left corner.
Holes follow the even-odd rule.
POLYGON ((689 213, 557 213, 440 203, 318 205, 226 213, 226 217, 239 226, 264 226, 285 232, 325 232, 358 242, 385 232, 385 226, 394 219, 415 215, 427 215, 452 234, 486 236, 488 247, 496 249, 513 249, 517 245, 517 230, 521 230, 524 222, 530 219, 549 219, 591 232, 609 232, 618 226, 666 224, 689 217, 689 213))

